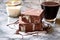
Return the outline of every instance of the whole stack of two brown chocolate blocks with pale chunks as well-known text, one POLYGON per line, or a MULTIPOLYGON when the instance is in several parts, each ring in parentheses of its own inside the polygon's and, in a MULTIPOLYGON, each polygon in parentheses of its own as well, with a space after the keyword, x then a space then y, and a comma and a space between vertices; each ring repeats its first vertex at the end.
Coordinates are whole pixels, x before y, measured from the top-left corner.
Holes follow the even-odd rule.
POLYGON ((19 17, 19 30, 24 32, 41 31, 43 10, 30 9, 28 11, 22 12, 19 17))

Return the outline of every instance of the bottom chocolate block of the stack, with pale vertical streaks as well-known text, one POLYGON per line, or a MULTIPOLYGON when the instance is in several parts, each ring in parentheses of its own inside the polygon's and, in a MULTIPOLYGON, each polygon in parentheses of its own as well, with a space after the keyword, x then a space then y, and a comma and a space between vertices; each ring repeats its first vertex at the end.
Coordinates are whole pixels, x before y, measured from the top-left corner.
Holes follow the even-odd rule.
POLYGON ((21 32, 34 32, 34 31, 42 31, 43 27, 41 23, 37 24, 19 24, 19 31, 21 32))

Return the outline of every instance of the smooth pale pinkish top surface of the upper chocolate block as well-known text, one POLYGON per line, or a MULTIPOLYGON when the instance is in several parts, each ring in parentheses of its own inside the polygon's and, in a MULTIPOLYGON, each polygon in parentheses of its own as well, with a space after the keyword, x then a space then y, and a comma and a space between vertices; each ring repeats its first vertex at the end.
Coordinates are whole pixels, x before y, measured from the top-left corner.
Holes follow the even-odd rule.
POLYGON ((30 15, 30 16, 40 16, 43 10, 41 9, 27 9, 24 12, 21 12, 23 15, 30 15))

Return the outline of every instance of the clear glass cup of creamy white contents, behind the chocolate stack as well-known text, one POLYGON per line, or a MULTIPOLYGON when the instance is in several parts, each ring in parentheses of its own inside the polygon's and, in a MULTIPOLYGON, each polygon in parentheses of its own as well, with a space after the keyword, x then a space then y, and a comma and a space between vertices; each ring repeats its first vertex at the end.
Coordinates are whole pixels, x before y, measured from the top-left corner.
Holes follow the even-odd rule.
POLYGON ((21 14, 22 0, 21 1, 12 1, 9 0, 6 2, 6 10, 9 17, 19 17, 21 14))

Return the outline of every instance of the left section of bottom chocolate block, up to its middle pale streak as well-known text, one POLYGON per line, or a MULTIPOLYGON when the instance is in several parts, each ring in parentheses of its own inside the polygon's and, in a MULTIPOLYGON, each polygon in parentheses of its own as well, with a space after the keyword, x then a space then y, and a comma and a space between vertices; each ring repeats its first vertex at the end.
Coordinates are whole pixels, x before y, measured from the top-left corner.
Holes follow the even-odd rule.
POLYGON ((19 24, 19 31, 32 32, 33 24, 19 24))

